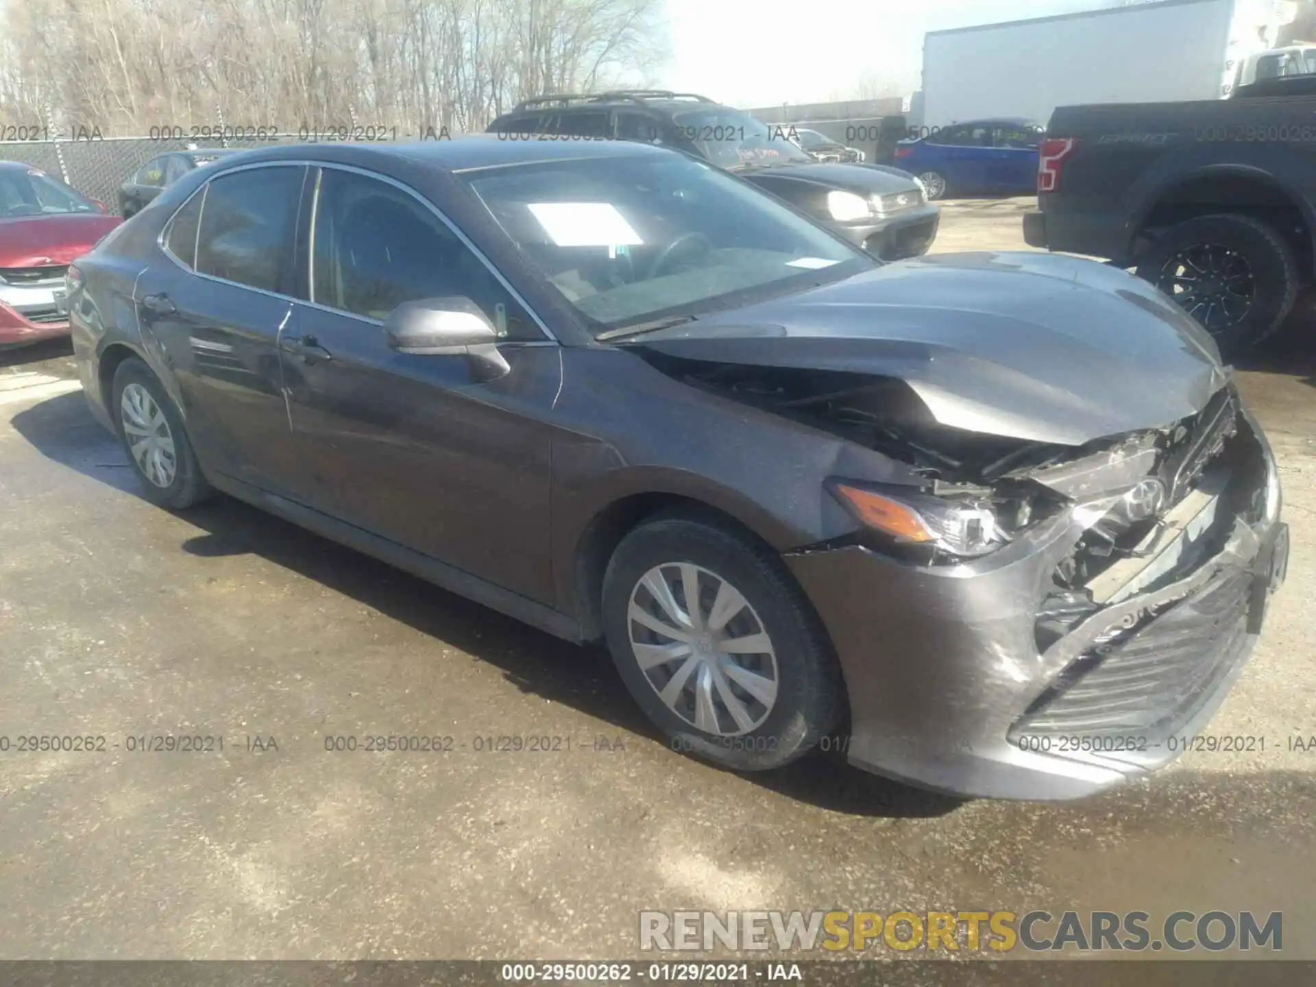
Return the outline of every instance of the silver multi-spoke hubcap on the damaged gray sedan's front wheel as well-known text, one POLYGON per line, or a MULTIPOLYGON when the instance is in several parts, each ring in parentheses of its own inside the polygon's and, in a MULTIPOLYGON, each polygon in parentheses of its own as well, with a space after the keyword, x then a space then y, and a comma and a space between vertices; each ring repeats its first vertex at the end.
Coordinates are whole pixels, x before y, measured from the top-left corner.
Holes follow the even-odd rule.
POLYGON ((691 562, 654 566, 630 591, 630 647, 658 697, 697 730, 734 737, 776 704, 776 651, 740 590, 691 562))

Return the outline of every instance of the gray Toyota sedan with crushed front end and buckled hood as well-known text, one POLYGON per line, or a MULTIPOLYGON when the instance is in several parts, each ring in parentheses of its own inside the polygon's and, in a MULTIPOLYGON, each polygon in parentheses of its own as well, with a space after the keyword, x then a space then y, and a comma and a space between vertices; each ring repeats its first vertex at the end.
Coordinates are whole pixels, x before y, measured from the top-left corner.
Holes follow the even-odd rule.
POLYGON ((604 641, 736 770, 832 737, 941 791, 1098 791, 1205 724, 1284 575, 1266 438, 1146 283, 880 265, 644 145, 237 154, 68 307, 147 499, 222 491, 604 641))

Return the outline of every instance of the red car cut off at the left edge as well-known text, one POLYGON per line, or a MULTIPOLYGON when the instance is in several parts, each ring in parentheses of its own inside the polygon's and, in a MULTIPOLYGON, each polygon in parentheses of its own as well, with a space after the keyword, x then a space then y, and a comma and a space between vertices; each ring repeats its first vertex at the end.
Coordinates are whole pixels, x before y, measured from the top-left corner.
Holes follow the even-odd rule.
POLYGON ((46 172, 0 161, 0 349, 68 333, 55 300, 64 271, 120 222, 46 172))

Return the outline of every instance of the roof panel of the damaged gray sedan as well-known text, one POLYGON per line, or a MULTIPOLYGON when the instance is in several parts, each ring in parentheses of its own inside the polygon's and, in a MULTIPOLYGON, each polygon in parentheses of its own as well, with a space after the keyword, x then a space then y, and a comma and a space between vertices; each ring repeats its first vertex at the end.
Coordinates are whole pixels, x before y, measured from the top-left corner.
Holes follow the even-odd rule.
POLYGON ((429 141, 286 143, 226 155, 225 170, 240 163, 307 159, 371 167, 407 161, 443 171, 507 167, 551 161, 670 155, 663 147, 633 141, 513 141, 505 134, 462 134, 429 141))

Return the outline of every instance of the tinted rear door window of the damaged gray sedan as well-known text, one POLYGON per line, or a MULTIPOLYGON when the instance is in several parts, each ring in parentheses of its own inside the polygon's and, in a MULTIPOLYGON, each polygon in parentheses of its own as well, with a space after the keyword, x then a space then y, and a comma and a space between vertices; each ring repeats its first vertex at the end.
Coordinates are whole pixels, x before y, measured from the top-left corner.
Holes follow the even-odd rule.
POLYGON ((290 268, 301 167, 267 167, 211 182, 201 209, 196 271, 280 291, 290 268))

